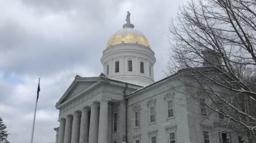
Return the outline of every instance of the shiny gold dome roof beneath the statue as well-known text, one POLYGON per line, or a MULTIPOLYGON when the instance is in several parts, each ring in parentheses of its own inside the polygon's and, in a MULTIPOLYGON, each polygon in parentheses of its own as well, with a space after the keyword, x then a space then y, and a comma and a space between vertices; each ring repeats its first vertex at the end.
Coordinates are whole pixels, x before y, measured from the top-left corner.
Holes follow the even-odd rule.
POLYGON ((125 27, 114 33, 109 41, 107 41, 106 48, 109 48, 111 45, 123 43, 140 44, 150 48, 147 38, 140 31, 133 29, 132 27, 125 27))

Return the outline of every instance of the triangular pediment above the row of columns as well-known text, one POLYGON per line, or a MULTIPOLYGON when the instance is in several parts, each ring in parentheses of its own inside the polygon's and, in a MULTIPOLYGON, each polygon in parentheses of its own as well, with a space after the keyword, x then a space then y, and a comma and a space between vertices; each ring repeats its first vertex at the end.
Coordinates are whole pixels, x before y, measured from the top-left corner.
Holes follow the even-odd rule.
POLYGON ((69 88, 65 91, 64 95, 60 98, 59 102, 57 102, 56 106, 64 103, 66 100, 69 100, 81 93, 82 91, 88 89, 98 82, 100 79, 96 78, 86 78, 86 77, 78 77, 72 82, 69 88))

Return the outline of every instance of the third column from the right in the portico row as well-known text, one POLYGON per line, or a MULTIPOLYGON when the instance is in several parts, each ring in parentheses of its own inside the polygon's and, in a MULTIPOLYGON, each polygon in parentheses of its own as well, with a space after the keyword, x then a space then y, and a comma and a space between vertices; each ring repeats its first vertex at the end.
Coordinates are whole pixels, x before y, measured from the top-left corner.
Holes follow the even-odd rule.
POLYGON ((89 137, 89 108, 83 108, 80 125, 79 143, 88 143, 89 137))

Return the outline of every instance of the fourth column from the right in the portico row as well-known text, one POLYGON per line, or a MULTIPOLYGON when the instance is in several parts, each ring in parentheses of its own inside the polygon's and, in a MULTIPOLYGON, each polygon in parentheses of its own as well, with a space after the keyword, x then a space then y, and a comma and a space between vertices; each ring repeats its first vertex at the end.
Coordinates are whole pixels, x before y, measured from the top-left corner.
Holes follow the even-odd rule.
POLYGON ((79 142, 79 132, 80 132, 80 112, 75 112, 73 114, 73 123, 72 123, 72 133, 71 133, 71 142, 79 142))

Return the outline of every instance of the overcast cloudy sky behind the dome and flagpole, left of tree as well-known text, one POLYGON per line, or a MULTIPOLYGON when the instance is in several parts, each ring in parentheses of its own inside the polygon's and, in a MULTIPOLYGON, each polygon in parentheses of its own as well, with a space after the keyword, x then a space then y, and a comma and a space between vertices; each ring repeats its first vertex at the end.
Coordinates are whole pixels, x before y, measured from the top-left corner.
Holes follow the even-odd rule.
POLYGON ((168 25, 181 0, 0 0, 0 117, 12 142, 29 142, 38 77, 34 142, 55 142, 56 102, 74 80, 99 76, 107 40, 131 23, 155 52, 155 81, 165 77, 168 25))

